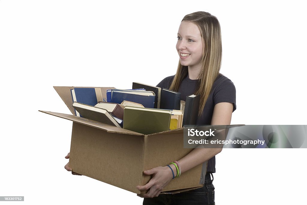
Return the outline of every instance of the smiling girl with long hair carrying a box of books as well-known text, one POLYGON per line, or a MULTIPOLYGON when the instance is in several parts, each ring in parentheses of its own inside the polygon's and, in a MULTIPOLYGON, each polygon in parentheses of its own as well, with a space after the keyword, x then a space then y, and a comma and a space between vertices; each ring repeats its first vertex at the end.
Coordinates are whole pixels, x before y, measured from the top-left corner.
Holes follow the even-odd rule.
MULTIPOLYGON (((227 125, 231 122, 232 112, 236 109, 235 86, 220 74, 222 43, 220 23, 215 16, 207 12, 195 12, 186 15, 179 26, 176 45, 180 57, 176 75, 163 79, 157 87, 171 89, 181 93, 181 100, 191 94, 200 95, 198 125, 227 125)), ((144 186, 137 186, 144 194, 143 204, 215 204, 214 186, 215 155, 221 148, 198 148, 173 164, 144 171, 152 175, 144 186), (208 167, 206 169, 208 161, 208 167), (202 164, 200 183, 204 187, 178 194, 160 194, 177 175, 202 164), (171 170, 172 169, 172 170, 171 170), (211 179, 212 175, 212 179, 211 179)))

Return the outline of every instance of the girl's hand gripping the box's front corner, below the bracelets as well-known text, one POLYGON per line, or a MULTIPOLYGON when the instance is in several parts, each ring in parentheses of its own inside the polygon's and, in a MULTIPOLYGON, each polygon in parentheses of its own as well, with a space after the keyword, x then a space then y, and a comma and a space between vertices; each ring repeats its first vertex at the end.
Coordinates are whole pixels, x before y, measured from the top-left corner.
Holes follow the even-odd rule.
POLYGON ((139 191, 146 191, 149 189, 149 191, 142 196, 145 198, 158 196, 162 189, 173 179, 172 171, 168 166, 156 167, 143 172, 146 175, 153 175, 147 184, 136 187, 139 191))

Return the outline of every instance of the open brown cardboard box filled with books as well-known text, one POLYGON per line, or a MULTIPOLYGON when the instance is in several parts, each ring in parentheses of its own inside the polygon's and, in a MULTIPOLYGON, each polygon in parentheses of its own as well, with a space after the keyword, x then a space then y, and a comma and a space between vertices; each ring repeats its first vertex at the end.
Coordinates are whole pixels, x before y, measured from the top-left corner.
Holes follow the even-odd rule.
MULTIPOLYGON (((74 113, 70 89, 54 87, 74 113)), ((101 88, 102 93, 111 88, 101 88)), ((105 92, 104 92, 105 93, 105 92)), ((143 171, 165 166, 179 160, 192 149, 183 148, 183 128, 144 135, 86 118, 63 113, 41 111, 73 121, 69 165, 73 171, 134 192, 137 185, 145 185, 150 175, 143 171)), ((202 164, 171 180, 164 193, 179 193, 202 187, 202 164)))

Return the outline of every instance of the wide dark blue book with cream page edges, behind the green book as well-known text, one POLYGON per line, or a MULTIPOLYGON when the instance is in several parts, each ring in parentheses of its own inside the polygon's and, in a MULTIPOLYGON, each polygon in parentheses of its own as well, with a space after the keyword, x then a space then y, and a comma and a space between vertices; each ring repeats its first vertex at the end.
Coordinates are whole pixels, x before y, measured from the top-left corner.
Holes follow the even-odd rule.
POLYGON ((131 101, 142 104, 145 108, 154 108, 155 94, 145 90, 111 90, 111 102, 121 104, 122 101, 131 101))

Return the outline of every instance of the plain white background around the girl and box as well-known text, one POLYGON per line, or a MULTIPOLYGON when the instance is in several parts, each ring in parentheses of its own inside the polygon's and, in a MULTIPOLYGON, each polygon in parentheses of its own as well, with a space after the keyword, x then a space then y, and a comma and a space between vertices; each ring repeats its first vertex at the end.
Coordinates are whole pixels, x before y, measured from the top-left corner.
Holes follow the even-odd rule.
MULTIPOLYGON (((179 24, 198 10, 220 21, 221 73, 237 90, 231 124, 307 124, 300 2, 1 0, 0 196, 142 204, 64 170, 72 122, 38 110, 70 114, 52 86, 130 89, 174 75, 179 24)), ((216 204, 306 203, 305 156, 305 149, 224 149, 216 156, 216 204)))

